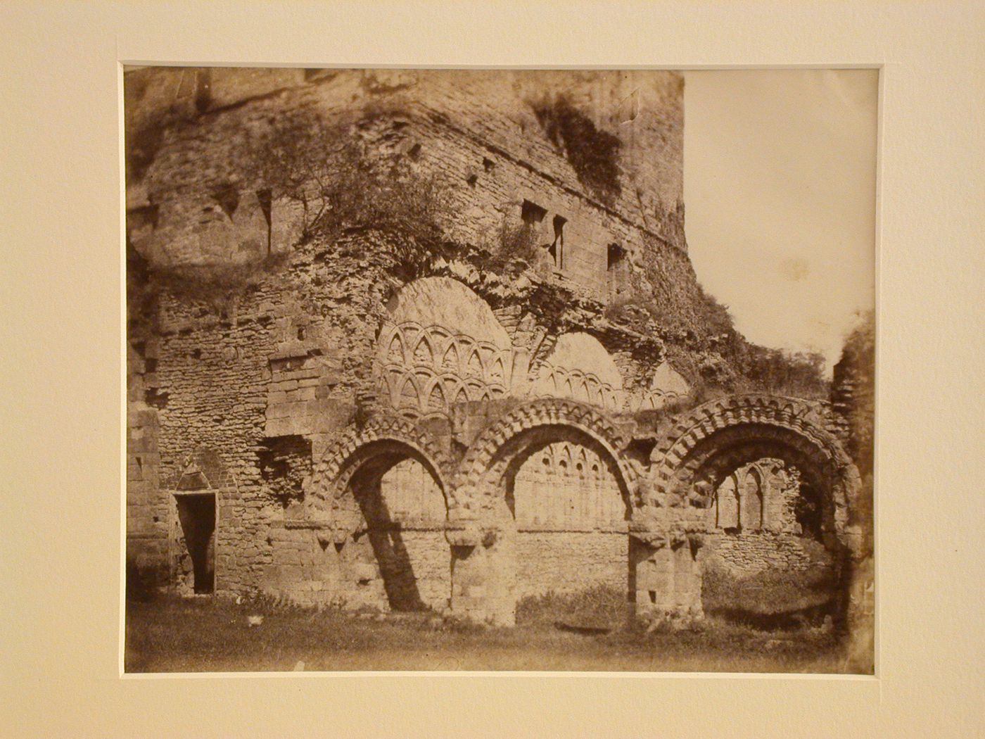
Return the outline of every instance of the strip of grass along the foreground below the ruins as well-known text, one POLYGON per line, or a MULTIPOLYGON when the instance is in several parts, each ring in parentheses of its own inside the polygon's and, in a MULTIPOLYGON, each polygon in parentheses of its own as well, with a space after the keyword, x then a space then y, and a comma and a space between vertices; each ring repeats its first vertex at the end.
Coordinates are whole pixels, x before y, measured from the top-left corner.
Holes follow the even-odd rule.
POLYGON ((484 629, 432 614, 348 614, 265 600, 130 601, 125 670, 852 671, 843 644, 823 628, 761 631, 711 617, 682 631, 578 634, 551 623, 543 601, 539 612, 537 603, 524 607, 528 623, 484 629), (251 626, 256 616, 262 623, 251 626))

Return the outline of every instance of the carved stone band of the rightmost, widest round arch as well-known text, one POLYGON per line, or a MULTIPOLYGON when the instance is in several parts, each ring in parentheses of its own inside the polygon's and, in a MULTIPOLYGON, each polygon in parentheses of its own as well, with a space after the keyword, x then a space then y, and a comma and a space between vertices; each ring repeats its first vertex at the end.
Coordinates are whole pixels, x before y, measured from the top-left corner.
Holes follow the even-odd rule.
POLYGON ((739 395, 709 401, 687 414, 657 440, 651 454, 649 496, 644 505, 684 499, 704 507, 737 465, 760 457, 793 462, 825 492, 827 528, 851 546, 846 525, 860 487, 858 470, 810 403, 770 395, 739 395))

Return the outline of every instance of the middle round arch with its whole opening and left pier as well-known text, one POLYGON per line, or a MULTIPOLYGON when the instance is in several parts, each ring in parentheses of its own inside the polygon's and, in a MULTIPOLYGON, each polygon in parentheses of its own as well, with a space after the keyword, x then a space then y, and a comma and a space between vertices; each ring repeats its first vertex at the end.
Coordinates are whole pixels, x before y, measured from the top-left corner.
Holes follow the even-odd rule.
POLYGON ((597 410, 558 399, 524 404, 487 428, 456 476, 458 513, 484 533, 453 547, 453 608, 511 624, 525 595, 599 584, 627 592, 627 441, 597 410), (481 598, 470 600, 473 583, 481 598))

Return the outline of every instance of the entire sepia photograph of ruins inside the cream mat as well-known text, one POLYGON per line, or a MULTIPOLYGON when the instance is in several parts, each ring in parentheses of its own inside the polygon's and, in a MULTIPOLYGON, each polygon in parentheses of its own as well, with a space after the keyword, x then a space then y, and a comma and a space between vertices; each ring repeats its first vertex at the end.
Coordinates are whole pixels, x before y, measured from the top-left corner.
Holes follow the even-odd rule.
POLYGON ((874 674, 879 84, 124 67, 124 670, 874 674))

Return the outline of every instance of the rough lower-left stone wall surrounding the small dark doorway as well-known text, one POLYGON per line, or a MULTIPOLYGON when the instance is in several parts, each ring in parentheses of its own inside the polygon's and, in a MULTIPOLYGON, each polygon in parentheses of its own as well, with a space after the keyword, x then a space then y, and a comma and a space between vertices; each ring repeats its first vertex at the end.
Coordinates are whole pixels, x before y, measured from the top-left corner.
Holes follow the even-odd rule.
POLYGON ((258 588, 273 562, 267 529, 283 521, 298 487, 297 479, 287 487, 278 479, 282 462, 294 472, 278 457, 281 442, 305 439, 310 463, 351 420, 360 388, 371 382, 375 323, 364 303, 373 302, 372 272, 357 257, 326 262, 315 251, 297 252, 293 270, 225 306, 161 295, 151 338, 137 342, 154 355, 153 371, 139 355, 130 366, 128 540, 143 569, 149 558, 167 557, 167 491, 188 455, 208 448, 237 482, 220 496, 217 588, 258 588))

